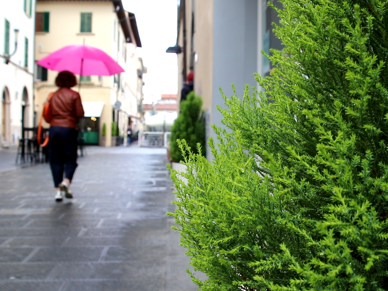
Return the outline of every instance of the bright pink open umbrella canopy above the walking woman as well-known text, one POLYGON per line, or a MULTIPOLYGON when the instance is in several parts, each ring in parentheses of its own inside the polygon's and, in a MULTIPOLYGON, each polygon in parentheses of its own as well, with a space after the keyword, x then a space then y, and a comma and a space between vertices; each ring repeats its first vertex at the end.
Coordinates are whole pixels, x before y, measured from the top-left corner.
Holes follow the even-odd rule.
POLYGON ((69 71, 81 76, 111 76, 124 72, 123 68, 101 49, 85 45, 63 47, 37 64, 52 71, 69 71))

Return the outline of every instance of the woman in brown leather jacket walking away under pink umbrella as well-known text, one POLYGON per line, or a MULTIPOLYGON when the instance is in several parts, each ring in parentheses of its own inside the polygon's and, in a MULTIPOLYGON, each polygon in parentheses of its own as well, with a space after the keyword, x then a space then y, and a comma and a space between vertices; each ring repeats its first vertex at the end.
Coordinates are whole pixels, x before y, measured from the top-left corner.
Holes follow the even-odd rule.
POLYGON ((50 100, 51 122, 49 160, 55 187, 55 200, 62 201, 73 198, 70 190, 71 179, 77 168, 77 137, 76 129, 80 118, 84 117, 81 97, 71 90, 77 85, 74 74, 63 71, 58 74, 55 84, 59 89, 50 100), (65 178, 64 178, 65 173, 65 178))

